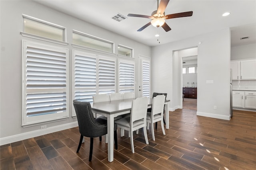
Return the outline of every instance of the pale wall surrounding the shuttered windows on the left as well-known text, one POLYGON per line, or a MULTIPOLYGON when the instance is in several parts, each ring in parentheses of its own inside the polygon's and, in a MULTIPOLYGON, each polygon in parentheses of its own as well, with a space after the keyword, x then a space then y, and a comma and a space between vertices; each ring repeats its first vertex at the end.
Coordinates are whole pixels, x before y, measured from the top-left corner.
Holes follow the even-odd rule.
MULTIPOLYGON (((20 141, 29 137, 35 137, 53 131, 77 126, 77 119, 71 117, 72 102, 69 103, 70 117, 64 121, 47 123, 47 129, 40 130, 40 125, 23 128, 21 126, 22 117, 22 69, 21 69, 21 45, 22 39, 43 42, 40 40, 22 37, 22 14, 39 18, 44 21, 55 23, 66 27, 67 42, 66 48, 70 49, 70 63, 72 63, 72 29, 100 37, 118 44, 134 48, 136 70, 138 70, 138 56, 151 57, 151 48, 127 37, 123 37, 111 31, 106 31, 100 27, 86 23, 77 18, 57 12, 51 8, 38 4, 35 1, 0 1, 1 16, 1 58, 0 58, 0 145, 14 141, 20 141)), ((45 43, 45 42, 44 42, 45 43)), ((54 44, 54 46, 58 46, 54 44)), ((116 57, 116 56, 114 56, 116 57)), ((70 69, 71 75, 71 69, 70 69)), ((136 82, 138 82, 138 74, 136 82)), ((70 80, 72 80, 70 78, 70 80)), ((136 92, 138 87, 136 86, 136 92)), ((70 82, 70 98, 71 98, 70 82)), ((136 93, 137 94, 137 93, 136 93)))

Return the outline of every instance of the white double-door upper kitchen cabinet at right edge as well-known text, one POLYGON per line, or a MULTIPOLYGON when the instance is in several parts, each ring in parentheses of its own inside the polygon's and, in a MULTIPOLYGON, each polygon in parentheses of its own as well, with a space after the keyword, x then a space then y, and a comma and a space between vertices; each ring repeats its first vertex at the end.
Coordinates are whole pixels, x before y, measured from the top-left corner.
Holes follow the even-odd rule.
POLYGON ((256 79, 256 59, 231 61, 233 80, 255 80, 256 79))

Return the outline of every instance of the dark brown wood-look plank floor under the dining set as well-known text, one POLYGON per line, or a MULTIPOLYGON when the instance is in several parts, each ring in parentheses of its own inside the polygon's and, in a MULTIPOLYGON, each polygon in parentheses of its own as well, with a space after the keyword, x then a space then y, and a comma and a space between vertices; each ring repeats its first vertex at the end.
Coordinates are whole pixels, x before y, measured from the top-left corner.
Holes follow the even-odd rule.
POLYGON ((161 127, 149 145, 143 131, 130 139, 120 137, 114 161, 108 162, 107 144, 94 139, 92 162, 88 161, 90 139, 76 153, 78 127, 7 145, 0 153, 1 170, 255 170, 256 112, 234 110, 230 121, 196 116, 195 110, 170 111, 170 129, 161 127))

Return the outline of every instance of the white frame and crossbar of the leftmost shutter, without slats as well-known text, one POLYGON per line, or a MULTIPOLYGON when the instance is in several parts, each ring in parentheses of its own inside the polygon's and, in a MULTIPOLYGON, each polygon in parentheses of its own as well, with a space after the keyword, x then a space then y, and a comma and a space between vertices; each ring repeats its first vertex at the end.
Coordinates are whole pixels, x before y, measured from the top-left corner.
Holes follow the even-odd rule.
MULTIPOLYGON (((58 120, 63 120, 67 119, 69 117, 69 77, 68 77, 68 72, 69 72, 69 62, 68 62, 68 55, 69 55, 69 49, 63 48, 63 47, 56 47, 52 45, 46 45, 43 43, 37 43, 33 41, 27 41, 27 40, 22 40, 22 126, 23 127, 29 127, 29 126, 34 126, 46 122, 52 122, 52 121, 58 121, 58 120), (49 50, 49 51, 57 51, 57 52, 65 52, 66 53, 66 84, 65 88, 34 88, 34 89, 29 89, 27 88, 27 78, 26 78, 26 63, 27 63, 27 52, 26 48, 30 46, 32 48, 41 48, 43 50, 49 50), (36 90, 38 89, 38 90, 36 90), (33 115, 33 116, 27 116, 27 94, 28 92, 30 93, 43 93, 43 92, 65 92, 66 93, 66 111, 58 112, 58 113, 53 113, 53 114, 41 114, 41 115, 33 115)), ((50 106, 49 106, 50 107, 50 106)))

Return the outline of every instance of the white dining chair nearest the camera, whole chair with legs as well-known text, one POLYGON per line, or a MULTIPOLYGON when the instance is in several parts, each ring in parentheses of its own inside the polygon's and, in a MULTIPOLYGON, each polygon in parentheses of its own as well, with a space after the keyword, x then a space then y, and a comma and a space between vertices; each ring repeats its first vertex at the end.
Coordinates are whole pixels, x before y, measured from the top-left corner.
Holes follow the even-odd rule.
POLYGON ((133 131, 143 128, 145 141, 146 141, 146 144, 148 144, 148 136, 147 136, 147 129, 146 129, 147 107, 148 107, 147 97, 136 98, 135 100, 132 101, 132 109, 131 109, 130 116, 124 117, 122 119, 115 121, 118 127, 126 131, 129 131, 132 153, 134 153, 133 131))

